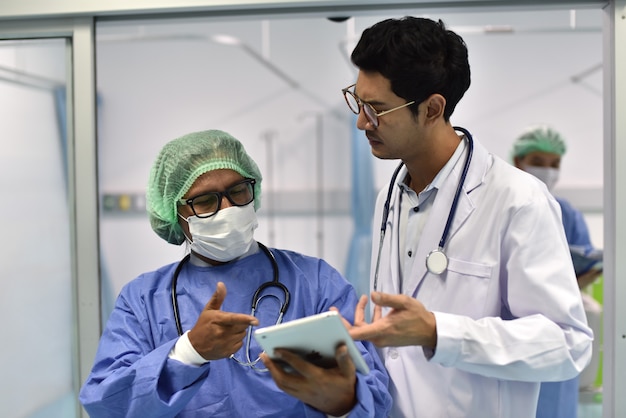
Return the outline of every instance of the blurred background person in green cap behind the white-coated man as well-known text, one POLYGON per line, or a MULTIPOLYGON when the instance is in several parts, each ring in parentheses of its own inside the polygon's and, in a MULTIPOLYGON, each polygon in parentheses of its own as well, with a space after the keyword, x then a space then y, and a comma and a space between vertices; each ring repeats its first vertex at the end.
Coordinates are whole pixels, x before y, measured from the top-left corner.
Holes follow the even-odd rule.
MULTIPOLYGON (((561 159, 567 150, 565 140, 547 125, 528 127, 513 144, 513 163, 541 180, 552 193, 559 179, 561 159)), ((555 196, 563 217, 565 236, 570 246, 589 252, 593 245, 583 214, 567 200, 555 196)), ((578 286, 582 290, 593 283, 602 270, 592 268, 579 274, 578 286)), ((582 293, 587 320, 594 332, 598 333, 601 306, 586 293, 582 293)), ((562 382, 543 382, 539 392, 537 418, 575 418, 578 410, 579 389, 593 385, 599 367, 599 340, 594 340, 593 358, 580 376, 562 382), (587 377, 589 376, 589 377, 587 377), (581 379, 583 381, 581 382, 581 379)))

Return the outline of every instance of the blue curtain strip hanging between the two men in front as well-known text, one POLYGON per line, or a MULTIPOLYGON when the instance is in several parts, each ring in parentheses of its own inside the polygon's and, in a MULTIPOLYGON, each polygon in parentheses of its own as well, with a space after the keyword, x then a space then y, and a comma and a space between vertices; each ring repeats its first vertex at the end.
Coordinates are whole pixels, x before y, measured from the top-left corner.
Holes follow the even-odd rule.
POLYGON ((358 295, 369 295, 370 257, 372 251, 372 217, 376 203, 373 157, 364 133, 352 124, 352 219, 354 234, 350 243, 346 277, 358 295))

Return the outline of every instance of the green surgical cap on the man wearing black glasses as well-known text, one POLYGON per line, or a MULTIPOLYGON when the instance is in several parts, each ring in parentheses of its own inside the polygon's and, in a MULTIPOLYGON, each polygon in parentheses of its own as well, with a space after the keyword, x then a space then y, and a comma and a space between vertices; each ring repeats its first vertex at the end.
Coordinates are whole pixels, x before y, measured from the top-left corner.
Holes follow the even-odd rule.
POLYGON ((219 169, 255 179, 254 209, 259 209, 261 172, 241 142, 223 131, 194 132, 168 142, 150 171, 146 206, 150 225, 158 236, 176 245, 185 241, 178 224, 177 202, 198 177, 219 169))

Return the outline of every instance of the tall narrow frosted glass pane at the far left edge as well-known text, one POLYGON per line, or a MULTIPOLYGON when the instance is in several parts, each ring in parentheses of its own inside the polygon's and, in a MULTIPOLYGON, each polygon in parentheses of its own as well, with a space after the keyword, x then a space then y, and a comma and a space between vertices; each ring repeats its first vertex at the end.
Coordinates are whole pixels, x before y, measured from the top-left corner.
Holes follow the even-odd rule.
POLYGON ((0 41, 0 416, 76 416, 65 39, 0 41))

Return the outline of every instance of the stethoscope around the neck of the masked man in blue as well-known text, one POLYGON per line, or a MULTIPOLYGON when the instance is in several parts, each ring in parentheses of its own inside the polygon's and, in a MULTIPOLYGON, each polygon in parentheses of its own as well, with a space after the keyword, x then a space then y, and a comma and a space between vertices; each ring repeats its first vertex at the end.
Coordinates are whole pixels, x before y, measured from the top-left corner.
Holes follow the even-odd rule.
MULTIPOLYGON (((289 293, 289 289, 287 289, 287 286, 280 283, 279 281, 278 264, 276 263, 276 258, 274 257, 274 254, 272 254, 269 248, 267 248, 265 245, 261 244, 260 242, 258 242, 258 245, 263 251, 263 253, 265 254, 265 256, 270 260, 270 263, 272 264, 273 279, 272 281, 262 283, 254 292, 254 295, 252 296, 250 315, 255 316, 254 314, 256 313, 259 303, 261 302, 263 298, 274 297, 276 299, 280 299, 278 296, 270 294, 270 293, 265 294, 265 295, 263 294, 263 292, 267 290, 269 287, 276 287, 280 289, 284 295, 284 300, 282 301, 280 305, 278 319, 276 320, 276 324, 280 324, 283 320, 283 316, 285 315, 285 312, 287 311, 287 308, 289 308, 289 299, 291 296, 289 293)), ((178 263, 178 266, 176 266, 176 270, 174 271, 174 275, 172 276, 172 288, 171 288, 170 294, 172 297, 172 310, 174 311, 174 322, 176 323, 176 331, 178 332, 179 337, 183 335, 183 327, 180 321, 180 311, 178 309, 178 293, 176 291, 176 284, 178 283, 178 276, 180 275, 180 272, 183 266, 189 261, 190 258, 191 258, 191 254, 187 254, 178 263)), ((253 367, 255 370, 258 370, 258 371, 267 371, 267 369, 255 367, 255 364, 259 362, 260 358, 257 358, 254 361, 251 360, 251 357, 250 357, 251 338, 252 338, 252 325, 248 327, 248 332, 246 335, 245 351, 246 351, 247 362, 237 359, 234 354, 231 355, 230 357, 233 360, 235 360, 237 363, 242 364, 244 366, 253 367)))

